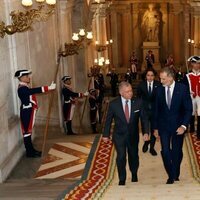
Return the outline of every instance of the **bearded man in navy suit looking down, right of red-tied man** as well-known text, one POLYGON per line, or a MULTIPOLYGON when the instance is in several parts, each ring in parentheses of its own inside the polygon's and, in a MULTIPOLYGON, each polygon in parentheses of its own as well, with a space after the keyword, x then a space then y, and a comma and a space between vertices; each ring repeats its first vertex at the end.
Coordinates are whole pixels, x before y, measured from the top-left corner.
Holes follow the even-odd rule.
POLYGON ((192 116, 189 90, 185 85, 175 82, 174 78, 172 69, 161 69, 163 87, 157 88, 154 107, 154 135, 160 136, 161 155, 168 174, 166 184, 179 181, 183 138, 192 116))

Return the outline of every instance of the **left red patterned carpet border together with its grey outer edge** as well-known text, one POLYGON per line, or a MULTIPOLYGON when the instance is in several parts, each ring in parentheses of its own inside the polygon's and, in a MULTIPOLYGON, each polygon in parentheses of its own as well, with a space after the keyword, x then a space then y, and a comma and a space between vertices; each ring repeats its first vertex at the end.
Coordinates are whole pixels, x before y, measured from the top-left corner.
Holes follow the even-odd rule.
MULTIPOLYGON (((105 122, 108 103, 105 106, 105 122)), ((111 132, 113 130, 113 124, 111 132)), ((116 168, 116 152, 112 141, 103 142, 96 136, 88 156, 82 178, 65 190, 58 200, 99 200, 113 180, 116 168)))

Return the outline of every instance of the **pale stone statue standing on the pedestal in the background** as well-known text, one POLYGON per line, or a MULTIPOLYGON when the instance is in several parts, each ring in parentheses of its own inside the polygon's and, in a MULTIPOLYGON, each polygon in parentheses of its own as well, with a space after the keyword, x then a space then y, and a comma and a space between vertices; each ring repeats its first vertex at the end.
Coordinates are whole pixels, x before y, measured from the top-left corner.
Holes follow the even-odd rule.
POLYGON ((155 9, 155 4, 149 4, 149 9, 142 18, 142 28, 145 32, 145 41, 158 42, 160 28, 160 14, 155 9))

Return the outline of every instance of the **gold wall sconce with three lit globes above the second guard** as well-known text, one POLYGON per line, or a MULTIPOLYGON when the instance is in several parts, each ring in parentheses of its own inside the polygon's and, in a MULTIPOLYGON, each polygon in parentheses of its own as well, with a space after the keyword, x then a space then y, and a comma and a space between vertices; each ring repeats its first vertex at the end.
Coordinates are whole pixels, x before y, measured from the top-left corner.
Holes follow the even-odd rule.
POLYGON ((89 45, 92 39, 92 32, 87 32, 86 34, 84 29, 80 29, 79 33, 73 33, 73 42, 65 43, 64 50, 59 51, 58 54, 62 57, 78 54, 78 51, 89 45))

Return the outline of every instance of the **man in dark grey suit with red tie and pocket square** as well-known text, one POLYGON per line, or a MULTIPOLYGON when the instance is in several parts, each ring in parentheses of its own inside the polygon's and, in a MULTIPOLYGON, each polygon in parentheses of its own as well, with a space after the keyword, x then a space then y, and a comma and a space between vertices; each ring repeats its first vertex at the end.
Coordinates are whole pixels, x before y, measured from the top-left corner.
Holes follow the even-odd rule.
POLYGON ((137 171, 139 167, 138 143, 139 143, 139 118, 142 122, 144 140, 148 140, 148 121, 145 111, 142 109, 142 102, 139 99, 132 99, 133 91, 130 83, 119 84, 121 96, 110 102, 103 131, 103 140, 109 140, 112 120, 115 121, 112 140, 117 151, 117 169, 119 185, 126 182, 126 151, 128 152, 128 163, 132 173, 132 182, 137 182, 137 171))

